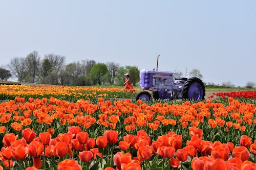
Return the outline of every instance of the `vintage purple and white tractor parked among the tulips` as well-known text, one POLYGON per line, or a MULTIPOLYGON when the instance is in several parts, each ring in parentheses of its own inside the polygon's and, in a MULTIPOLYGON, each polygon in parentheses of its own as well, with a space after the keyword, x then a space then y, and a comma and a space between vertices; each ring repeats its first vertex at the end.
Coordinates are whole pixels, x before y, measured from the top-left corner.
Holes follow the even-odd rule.
POLYGON ((138 92, 136 100, 150 101, 152 96, 155 100, 204 99, 205 87, 200 79, 174 78, 174 74, 175 72, 172 71, 141 70, 142 91, 138 92))

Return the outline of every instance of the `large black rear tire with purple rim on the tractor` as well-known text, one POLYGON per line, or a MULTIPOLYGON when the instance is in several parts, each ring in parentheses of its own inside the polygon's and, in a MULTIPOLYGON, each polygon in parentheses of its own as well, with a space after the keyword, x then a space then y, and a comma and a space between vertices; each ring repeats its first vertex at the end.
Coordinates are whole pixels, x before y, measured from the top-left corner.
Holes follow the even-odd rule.
POLYGON ((193 77, 188 79, 182 89, 183 99, 201 100, 205 96, 205 87, 202 80, 193 77))

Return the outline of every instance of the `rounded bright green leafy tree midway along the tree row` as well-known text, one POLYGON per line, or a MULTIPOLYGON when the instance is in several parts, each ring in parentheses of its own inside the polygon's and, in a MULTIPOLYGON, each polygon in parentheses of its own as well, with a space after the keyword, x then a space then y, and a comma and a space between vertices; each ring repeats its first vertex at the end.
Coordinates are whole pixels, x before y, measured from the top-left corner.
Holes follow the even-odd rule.
POLYGON ((95 83, 101 85, 105 82, 105 75, 109 70, 104 63, 95 64, 90 71, 90 79, 95 83))

